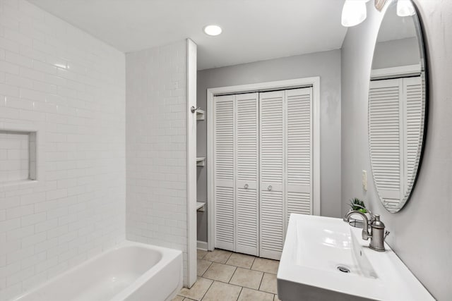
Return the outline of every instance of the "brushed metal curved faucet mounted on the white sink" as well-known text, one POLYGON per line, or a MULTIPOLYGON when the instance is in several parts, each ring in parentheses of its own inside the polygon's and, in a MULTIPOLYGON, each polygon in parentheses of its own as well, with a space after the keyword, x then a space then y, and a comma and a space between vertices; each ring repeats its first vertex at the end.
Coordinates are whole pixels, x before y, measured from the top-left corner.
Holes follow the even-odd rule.
POLYGON ((371 223, 369 223, 369 220, 367 219, 366 214, 362 213, 361 211, 352 210, 348 211, 347 214, 344 216, 344 221, 348 223, 350 221, 350 216, 352 214, 359 214, 364 219, 363 225, 362 225, 362 239, 368 240, 370 238, 369 242, 369 249, 384 252, 384 239, 389 234, 389 231, 384 231, 384 223, 380 221, 379 214, 375 214, 372 216, 371 223), (369 232, 369 226, 371 228, 371 231, 369 232))

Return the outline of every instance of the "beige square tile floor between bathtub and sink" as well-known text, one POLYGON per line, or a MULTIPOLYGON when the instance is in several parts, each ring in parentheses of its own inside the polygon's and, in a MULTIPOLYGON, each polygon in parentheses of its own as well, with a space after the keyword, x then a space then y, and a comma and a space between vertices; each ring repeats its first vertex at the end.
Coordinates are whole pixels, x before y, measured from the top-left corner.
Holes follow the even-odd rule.
POLYGON ((198 250, 198 280, 172 301, 280 301, 279 262, 250 255, 198 250))

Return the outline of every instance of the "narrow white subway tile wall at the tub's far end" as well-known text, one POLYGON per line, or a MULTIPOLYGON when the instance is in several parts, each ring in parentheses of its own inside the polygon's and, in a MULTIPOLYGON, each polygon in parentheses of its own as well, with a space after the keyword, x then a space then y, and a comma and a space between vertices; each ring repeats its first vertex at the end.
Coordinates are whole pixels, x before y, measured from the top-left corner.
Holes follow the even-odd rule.
POLYGON ((186 41, 126 54, 126 237, 184 252, 186 41))

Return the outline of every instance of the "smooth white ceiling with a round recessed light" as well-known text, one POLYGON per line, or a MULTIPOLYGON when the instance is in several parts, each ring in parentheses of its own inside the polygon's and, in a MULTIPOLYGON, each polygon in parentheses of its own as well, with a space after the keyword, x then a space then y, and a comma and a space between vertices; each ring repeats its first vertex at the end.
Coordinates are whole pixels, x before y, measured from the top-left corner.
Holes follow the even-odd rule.
POLYGON ((198 70, 339 49, 344 0, 29 0, 124 51, 190 37, 198 70), (208 37, 205 25, 222 35, 208 37))

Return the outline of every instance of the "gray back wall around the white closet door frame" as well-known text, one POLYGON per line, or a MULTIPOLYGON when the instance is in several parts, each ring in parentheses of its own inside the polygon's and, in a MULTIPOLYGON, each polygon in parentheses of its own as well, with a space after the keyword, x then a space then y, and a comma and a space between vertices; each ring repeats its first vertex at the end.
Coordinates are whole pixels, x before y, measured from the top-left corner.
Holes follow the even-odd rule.
MULTIPOLYGON (((338 217, 340 216, 340 50, 198 71, 197 104, 206 109, 208 88, 312 76, 320 76, 321 215, 338 217)), ((207 119, 198 121, 198 156, 207 154, 206 138, 207 119)), ((198 199, 207 199, 206 167, 198 167, 198 199)), ((207 241, 207 211, 198 212, 198 240, 207 241)))

